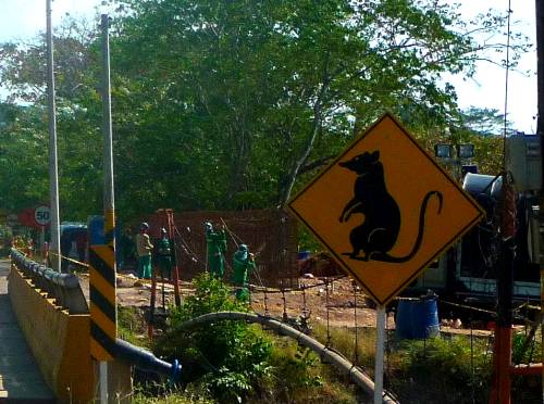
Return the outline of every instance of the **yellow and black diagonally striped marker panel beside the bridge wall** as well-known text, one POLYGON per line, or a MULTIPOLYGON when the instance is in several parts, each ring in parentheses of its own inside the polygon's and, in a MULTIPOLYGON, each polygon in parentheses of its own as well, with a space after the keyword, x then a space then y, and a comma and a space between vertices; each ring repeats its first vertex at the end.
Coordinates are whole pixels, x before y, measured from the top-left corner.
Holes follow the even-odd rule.
POLYGON ((90 354, 112 361, 118 334, 115 251, 111 245, 89 248, 90 354))

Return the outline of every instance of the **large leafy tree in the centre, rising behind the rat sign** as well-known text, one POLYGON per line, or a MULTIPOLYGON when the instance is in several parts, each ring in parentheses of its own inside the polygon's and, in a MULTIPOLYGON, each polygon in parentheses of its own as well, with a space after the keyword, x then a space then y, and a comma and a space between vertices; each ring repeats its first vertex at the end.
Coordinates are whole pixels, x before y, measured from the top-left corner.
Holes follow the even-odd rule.
POLYGON ((258 201, 251 182, 275 185, 263 202, 283 206, 298 176, 333 154, 323 150, 353 136, 349 117, 357 130, 409 108, 408 123, 446 127, 457 110, 441 74, 471 74, 496 48, 473 35, 503 22, 489 14, 472 27, 436 1, 121 3, 131 12, 118 21, 120 47, 133 50, 124 66, 143 89, 168 88, 161 114, 173 109, 205 129, 227 167, 226 178, 217 173, 228 184, 224 207, 236 197, 258 201))

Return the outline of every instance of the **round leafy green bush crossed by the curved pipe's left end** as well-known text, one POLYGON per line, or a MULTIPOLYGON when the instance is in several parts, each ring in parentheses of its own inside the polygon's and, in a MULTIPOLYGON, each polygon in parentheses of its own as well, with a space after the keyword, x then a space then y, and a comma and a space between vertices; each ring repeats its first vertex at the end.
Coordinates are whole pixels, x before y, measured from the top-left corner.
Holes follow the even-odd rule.
MULTIPOLYGON (((196 293, 172 314, 177 324, 206 313, 247 311, 219 279, 203 274, 195 279, 196 293)), ((260 378, 271 371, 272 341, 258 327, 244 321, 218 321, 194 330, 172 332, 157 343, 163 355, 180 357, 184 382, 198 381, 222 402, 238 402, 254 392, 260 378)))

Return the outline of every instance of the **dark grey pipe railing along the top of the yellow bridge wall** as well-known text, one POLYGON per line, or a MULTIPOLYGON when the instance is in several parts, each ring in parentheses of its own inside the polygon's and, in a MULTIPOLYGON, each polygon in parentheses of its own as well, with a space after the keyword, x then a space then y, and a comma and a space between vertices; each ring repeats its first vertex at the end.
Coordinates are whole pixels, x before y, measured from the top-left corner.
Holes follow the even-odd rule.
POLYGON ((66 308, 70 314, 89 313, 77 276, 48 268, 27 258, 16 249, 11 250, 11 260, 25 277, 32 279, 36 288, 46 292, 49 299, 54 299, 57 305, 66 308))

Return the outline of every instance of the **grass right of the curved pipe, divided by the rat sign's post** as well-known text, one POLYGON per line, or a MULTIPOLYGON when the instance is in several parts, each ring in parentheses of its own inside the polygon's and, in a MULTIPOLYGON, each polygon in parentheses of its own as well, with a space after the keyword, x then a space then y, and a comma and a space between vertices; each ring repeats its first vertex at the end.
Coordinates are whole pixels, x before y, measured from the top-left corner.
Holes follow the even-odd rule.
MULTIPOLYGON (((330 345, 357 362, 372 378, 375 329, 331 328, 330 345)), ((313 326, 313 337, 327 340, 326 327, 313 326)), ((395 339, 390 331, 385 354, 384 387, 409 403, 472 403, 489 400, 492 345, 484 338, 468 336, 428 340, 395 339)))

